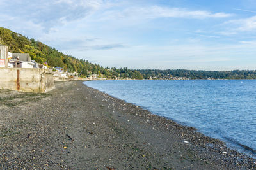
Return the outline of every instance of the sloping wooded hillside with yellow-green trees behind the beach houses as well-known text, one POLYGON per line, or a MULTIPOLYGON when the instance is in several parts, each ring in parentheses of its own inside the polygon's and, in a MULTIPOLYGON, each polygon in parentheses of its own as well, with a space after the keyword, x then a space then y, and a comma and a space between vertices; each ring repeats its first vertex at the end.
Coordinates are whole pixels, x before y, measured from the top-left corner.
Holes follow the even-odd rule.
POLYGON ((92 64, 88 60, 76 59, 70 55, 59 52, 51 46, 45 45, 35 39, 28 39, 10 29, 0 27, 0 44, 8 45, 12 53, 29 53, 32 60, 40 64, 47 64, 49 67, 63 67, 68 72, 76 71, 79 76, 86 77, 89 74, 99 74, 106 78, 136 78, 143 76, 138 71, 131 71, 127 68, 112 69, 104 68, 99 64, 92 64))

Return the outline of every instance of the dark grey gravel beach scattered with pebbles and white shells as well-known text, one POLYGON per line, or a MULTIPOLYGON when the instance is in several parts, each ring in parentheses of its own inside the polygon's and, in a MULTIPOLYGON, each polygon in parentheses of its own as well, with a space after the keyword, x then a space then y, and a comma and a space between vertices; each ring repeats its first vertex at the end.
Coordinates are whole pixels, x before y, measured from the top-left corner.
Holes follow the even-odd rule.
POLYGON ((0 90, 0 169, 256 169, 256 160, 86 87, 0 90))

